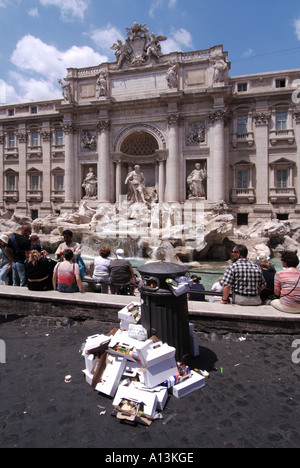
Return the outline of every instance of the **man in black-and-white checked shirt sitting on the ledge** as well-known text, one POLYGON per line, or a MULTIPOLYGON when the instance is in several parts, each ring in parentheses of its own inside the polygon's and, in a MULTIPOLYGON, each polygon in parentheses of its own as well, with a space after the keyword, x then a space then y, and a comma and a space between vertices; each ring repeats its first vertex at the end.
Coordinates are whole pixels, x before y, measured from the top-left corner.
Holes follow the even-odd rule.
POLYGON ((233 303, 238 305, 261 305, 260 291, 266 287, 262 271, 258 265, 247 259, 245 245, 236 245, 232 250, 233 265, 227 268, 223 277, 223 297, 221 304, 228 304, 232 291, 233 303))

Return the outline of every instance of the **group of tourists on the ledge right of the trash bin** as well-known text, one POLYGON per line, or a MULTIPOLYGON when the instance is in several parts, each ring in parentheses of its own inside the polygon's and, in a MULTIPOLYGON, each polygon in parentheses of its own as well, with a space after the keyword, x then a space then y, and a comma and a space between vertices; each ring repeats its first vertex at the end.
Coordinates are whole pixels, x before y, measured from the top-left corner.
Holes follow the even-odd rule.
MULTIPOLYGON (((270 304, 281 312, 299 314, 300 262, 297 253, 282 252, 283 270, 279 272, 276 272, 270 258, 264 254, 259 255, 255 262, 247 257, 247 247, 235 245, 232 250, 232 264, 211 288, 211 293, 222 296, 219 302, 241 306, 270 304)), ((205 301, 207 291, 200 283, 201 278, 193 275, 191 279, 193 284, 189 299, 205 301)))

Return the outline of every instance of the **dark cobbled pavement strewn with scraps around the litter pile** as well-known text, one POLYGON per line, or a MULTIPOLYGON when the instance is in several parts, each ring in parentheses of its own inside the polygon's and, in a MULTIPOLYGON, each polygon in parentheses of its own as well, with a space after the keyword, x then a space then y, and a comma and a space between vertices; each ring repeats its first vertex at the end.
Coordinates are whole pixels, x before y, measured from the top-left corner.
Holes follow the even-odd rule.
POLYGON ((0 448, 102 448, 98 461, 112 451, 196 457, 201 448, 300 446, 300 336, 199 332, 200 355, 191 367, 210 373, 206 386, 181 399, 170 396, 163 419, 148 427, 119 422, 112 399, 94 391, 82 374, 81 344, 115 326, 0 316, 0 344, 6 345, 0 448))

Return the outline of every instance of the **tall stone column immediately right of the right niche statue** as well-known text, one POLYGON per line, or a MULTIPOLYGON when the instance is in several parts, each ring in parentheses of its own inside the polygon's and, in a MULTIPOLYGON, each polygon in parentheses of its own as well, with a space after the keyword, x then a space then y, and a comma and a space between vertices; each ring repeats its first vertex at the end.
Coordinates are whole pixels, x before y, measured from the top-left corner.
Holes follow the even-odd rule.
POLYGON ((225 155, 225 135, 224 119, 225 110, 216 110, 210 114, 210 122, 213 125, 213 174, 208 174, 209 183, 213 184, 213 201, 226 201, 226 155, 225 155))

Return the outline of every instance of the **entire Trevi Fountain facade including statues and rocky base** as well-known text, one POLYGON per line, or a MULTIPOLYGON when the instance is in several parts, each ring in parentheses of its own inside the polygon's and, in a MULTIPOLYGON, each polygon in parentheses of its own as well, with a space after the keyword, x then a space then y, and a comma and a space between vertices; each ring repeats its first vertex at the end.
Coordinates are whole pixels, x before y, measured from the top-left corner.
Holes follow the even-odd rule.
POLYGON ((71 68, 62 98, 0 106, 0 212, 48 249, 70 228, 174 261, 298 250, 300 70, 230 77, 228 52, 163 55, 146 25, 113 63, 71 68))

